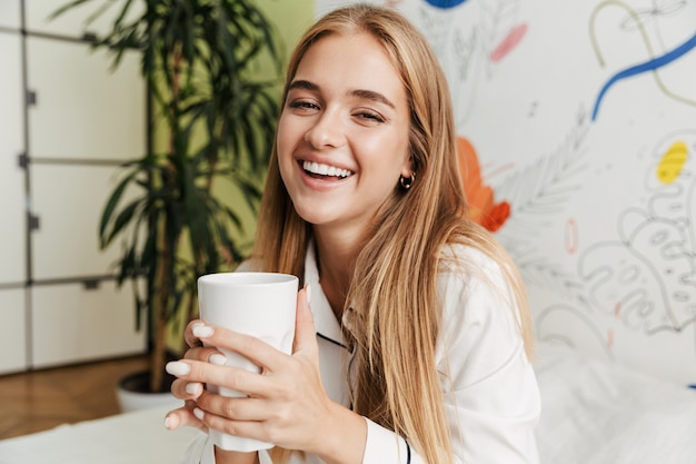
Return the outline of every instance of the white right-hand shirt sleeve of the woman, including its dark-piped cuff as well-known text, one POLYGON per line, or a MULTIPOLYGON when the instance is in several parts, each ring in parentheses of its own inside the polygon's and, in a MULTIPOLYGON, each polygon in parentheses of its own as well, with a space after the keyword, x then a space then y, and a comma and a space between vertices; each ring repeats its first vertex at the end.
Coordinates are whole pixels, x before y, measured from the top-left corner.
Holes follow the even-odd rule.
MULTIPOLYGON (((517 308, 497 265, 483 255, 469 258, 483 278, 453 270, 438 279, 443 319, 436 361, 455 462, 537 464, 539 391, 517 308)), ((402 437, 367 423, 362 464, 425 463, 402 437)))

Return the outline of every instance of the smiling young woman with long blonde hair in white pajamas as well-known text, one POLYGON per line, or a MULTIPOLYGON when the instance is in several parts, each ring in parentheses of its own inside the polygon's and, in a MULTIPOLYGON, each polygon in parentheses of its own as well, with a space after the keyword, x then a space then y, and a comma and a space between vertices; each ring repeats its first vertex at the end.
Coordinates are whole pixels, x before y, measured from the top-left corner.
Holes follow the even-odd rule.
POLYGON ((169 428, 277 446, 226 452, 201 435, 185 462, 537 461, 524 290, 467 219, 455 144, 437 58, 398 13, 348 7, 305 34, 245 264, 304 279, 294 353, 197 320, 192 347, 169 365, 187 401, 169 428), (217 365, 201 339, 261 374, 217 365), (206 382, 249 397, 211 394, 206 382))

